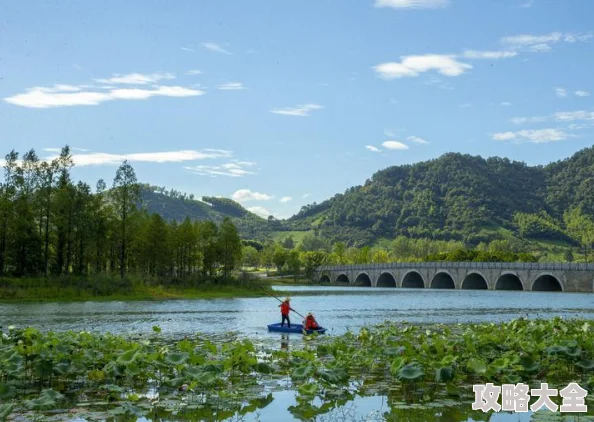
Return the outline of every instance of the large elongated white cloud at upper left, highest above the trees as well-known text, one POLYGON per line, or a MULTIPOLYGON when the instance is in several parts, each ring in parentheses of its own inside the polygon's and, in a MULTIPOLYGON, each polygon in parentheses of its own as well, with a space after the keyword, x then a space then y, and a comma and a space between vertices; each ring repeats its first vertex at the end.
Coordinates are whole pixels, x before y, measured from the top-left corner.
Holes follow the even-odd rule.
MULTIPOLYGON (((171 74, 124 75, 111 79, 116 84, 142 85, 149 80, 167 79, 171 74), (158 76, 155 76, 158 75, 158 76)), ((24 93, 4 98, 9 104, 28 108, 72 107, 98 105, 114 100, 146 100, 151 97, 193 97, 203 95, 204 91, 182 86, 153 85, 152 88, 116 88, 113 86, 93 87, 92 85, 54 85, 53 87, 33 87, 24 93)))

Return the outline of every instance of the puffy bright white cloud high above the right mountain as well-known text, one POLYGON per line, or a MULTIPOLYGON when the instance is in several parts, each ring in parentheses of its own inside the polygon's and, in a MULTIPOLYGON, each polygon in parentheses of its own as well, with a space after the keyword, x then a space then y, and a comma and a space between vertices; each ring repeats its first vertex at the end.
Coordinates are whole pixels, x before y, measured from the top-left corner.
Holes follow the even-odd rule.
POLYGON ((445 76, 459 76, 472 66, 459 62, 455 56, 442 54, 425 54, 420 56, 402 56, 399 62, 382 63, 373 69, 383 79, 411 78, 423 72, 435 70, 445 76))

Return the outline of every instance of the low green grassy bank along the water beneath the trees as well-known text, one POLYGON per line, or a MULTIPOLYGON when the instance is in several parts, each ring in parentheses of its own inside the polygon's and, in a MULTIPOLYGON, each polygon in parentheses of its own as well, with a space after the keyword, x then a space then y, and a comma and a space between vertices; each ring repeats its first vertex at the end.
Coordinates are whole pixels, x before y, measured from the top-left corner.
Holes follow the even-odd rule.
POLYGON ((2 278, 0 302, 77 302, 259 297, 268 284, 256 280, 227 282, 132 277, 2 278))

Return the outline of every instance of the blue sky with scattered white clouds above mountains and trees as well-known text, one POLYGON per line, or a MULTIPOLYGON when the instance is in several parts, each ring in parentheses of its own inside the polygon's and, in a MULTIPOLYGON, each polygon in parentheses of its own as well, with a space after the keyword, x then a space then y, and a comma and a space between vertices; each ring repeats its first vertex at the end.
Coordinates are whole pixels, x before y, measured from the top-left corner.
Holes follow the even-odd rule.
MULTIPOLYGON (((0 0, 0 149, 288 218, 447 152, 594 140, 591 0, 0 0)), ((521 182, 521 181, 519 181, 521 182)))

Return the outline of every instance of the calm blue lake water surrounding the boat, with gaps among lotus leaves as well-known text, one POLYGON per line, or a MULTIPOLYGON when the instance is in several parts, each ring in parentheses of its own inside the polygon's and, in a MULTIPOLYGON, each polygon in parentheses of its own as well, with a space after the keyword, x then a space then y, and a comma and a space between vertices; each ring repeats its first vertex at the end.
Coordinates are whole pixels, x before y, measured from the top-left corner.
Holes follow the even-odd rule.
MULTIPOLYGON (((290 296, 292 307, 300 313, 305 315, 309 311, 314 312, 318 321, 329 329, 330 335, 342 334, 347 330, 357 331, 363 326, 385 320, 412 323, 496 322, 520 316, 594 319, 594 295, 585 293, 320 286, 276 286, 275 290, 280 298, 290 296)), ((121 334, 151 333, 152 327, 159 325, 163 329, 162 335, 175 338, 196 333, 214 337, 235 333, 273 347, 299 347, 301 335, 291 335, 287 341, 280 334, 267 332, 266 324, 280 322, 278 304, 271 297, 163 302, 1 304, 0 325, 121 334)), ((293 314, 293 322, 299 323, 300 319, 293 314)), ((295 420, 287 411, 289 406, 295 404, 295 393, 280 391, 275 392, 274 397, 274 401, 259 412, 258 420, 295 420)), ((354 415, 356 420, 378 420, 378 415, 390 411, 385 397, 381 396, 357 398, 349 406, 351 407, 347 406, 342 411, 354 415)), ((470 416, 470 405, 465 407, 468 407, 467 413, 460 413, 459 409, 457 413, 448 409, 436 409, 428 420, 531 420, 529 413, 498 413, 483 415, 478 419, 473 414, 473 419, 470 416)), ((408 420, 404 414, 392 420, 408 420)), ((321 420, 330 419, 344 418, 337 414, 321 420)), ((585 420, 583 416, 581 420, 585 420)))

